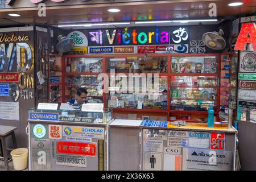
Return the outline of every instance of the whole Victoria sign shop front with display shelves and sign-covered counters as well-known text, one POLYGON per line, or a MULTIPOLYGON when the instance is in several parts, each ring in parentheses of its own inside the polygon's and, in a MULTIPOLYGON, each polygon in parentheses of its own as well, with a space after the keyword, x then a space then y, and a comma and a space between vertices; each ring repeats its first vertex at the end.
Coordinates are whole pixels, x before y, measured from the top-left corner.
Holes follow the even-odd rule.
MULTIPOLYGON (((40 1, 26 3, 33 12, 40 1)), ((59 10, 113 5, 104 3, 66 1, 59 10)), ((55 4, 45 2, 49 16, 55 4)), ((25 5, 10 1, 4 11, 13 7, 25 5)), ((0 123, 19 128, 19 146, 29 150, 28 169, 239 168, 234 126, 254 118, 246 115, 253 113, 247 106, 254 82, 245 75, 253 68, 241 56, 253 55, 235 51, 240 18, 203 20, 79 24, 78 18, 57 26, 56 19, 36 18, 32 27, 0 29, 0 123), (47 23, 38 26, 41 20, 47 23), (77 103, 79 88, 86 89, 87 104, 77 103)), ((26 21, 31 20, 20 20, 26 21)))

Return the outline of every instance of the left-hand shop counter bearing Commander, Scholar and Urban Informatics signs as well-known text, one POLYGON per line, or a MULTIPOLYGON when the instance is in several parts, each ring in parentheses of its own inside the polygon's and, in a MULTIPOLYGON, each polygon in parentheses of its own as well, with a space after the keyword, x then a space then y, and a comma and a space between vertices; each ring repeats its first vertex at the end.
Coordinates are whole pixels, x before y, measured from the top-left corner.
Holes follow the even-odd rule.
POLYGON ((108 170, 112 110, 28 110, 30 170, 108 170))

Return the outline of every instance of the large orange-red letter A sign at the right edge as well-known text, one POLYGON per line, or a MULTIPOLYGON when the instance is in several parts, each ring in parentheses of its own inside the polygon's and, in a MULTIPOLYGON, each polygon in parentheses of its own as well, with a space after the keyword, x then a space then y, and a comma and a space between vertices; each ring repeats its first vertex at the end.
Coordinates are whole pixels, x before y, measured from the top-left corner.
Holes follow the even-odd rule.
POLYGON ((256 51, 256 26, 254 23, 243 23, 240 34, 237 38, 235 50, 246 51, 247 44, 253 45, 253 51, 256 51))

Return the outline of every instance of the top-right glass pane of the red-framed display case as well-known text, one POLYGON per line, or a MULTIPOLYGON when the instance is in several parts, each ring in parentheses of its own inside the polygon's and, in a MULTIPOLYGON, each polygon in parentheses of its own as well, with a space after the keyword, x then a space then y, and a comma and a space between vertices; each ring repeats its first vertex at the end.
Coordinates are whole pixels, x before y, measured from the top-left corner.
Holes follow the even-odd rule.
POLYGON ((215 56, 172 57, 172 73, 217 73, 215 56))

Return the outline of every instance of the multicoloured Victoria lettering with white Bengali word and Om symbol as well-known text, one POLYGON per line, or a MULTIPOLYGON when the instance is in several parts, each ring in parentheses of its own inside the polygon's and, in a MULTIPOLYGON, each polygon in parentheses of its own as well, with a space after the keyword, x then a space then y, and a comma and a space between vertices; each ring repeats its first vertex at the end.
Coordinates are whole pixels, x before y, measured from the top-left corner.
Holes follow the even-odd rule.
POLYGON ((122 32, 121 30, 113 30, 112 35, 109 30, 98 30, 89 32, 90 41, 95 42, 96 44, 103 44, 103 35, 104 33, 108 37, 108 43, 110 45, 114 44, 115 38, 118 39, 119 44, 152 44, 153 40, 156 44, 165 44, 165 43, 175 43, 179 44, 182 41, 188 40, 188 32, 185 28, 177 28, 172 32, 173 36, 170 36, 168 31, 159 31, 159 28, 156 28, 155 31, 151 32, 137 32, 133 30, 132 33, 122 32), (105 32, 104 32, 105 31, 105 32))

